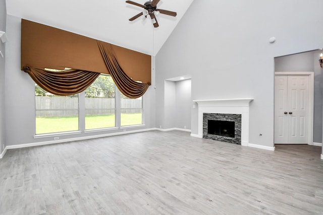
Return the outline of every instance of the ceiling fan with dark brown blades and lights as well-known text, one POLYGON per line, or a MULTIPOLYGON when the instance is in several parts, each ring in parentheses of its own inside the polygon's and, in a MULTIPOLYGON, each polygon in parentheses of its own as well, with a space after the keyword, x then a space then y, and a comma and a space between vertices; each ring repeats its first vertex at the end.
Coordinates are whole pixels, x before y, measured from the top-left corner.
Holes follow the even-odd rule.
POLYGON ((151 20, 152 20, 153 27, 157 28, 159 25, 158 25, 157 19, 156 19, 155 14, 154 14, 155 12, 159 12, 160 14, 166 14, 166 15, 169 15, 169 16, 176 17, 176 15, 177 15, 176 12, 157 9, 157 4, 158 4, 159 1, 160 0, 148 1, 148 2, 145 2, 144 5, 140 5, 140 4, 132 2, 132 1, 126 1, 126 3, 129 3, 131 5, 135 5, 135 6, 138 6, 138 7, 141 7, 143 9, 145 9, 143 12, 141 12, 141 13, 137 14, 136 16, 130 18, 129 21, 134 21, 135 19, 141 17, 142 15, 144 15, 145 17, 147 17, 149 15, 151 20))

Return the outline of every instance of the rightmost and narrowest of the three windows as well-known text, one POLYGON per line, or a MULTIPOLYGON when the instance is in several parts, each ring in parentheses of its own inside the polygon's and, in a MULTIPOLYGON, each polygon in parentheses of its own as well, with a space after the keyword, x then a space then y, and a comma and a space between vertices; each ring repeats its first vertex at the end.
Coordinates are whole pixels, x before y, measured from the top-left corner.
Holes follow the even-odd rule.
POLYGON ((142 124, 142 97, 131 99, 120 93, 121 126, 142 124))

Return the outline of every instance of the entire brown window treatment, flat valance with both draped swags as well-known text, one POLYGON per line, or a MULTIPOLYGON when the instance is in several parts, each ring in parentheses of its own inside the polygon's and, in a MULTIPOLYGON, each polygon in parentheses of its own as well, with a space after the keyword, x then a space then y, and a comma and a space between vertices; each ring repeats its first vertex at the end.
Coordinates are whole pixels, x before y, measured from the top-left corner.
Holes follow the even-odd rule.
POLYGON ((119 90, 130 98, 142 96, 151 82, 151 56, 147 54, 24 19, 21 69, 55 95, 82 92, 100 74, 110 74, 119 90), (73 69, 44 70, 64 67, 73 69))

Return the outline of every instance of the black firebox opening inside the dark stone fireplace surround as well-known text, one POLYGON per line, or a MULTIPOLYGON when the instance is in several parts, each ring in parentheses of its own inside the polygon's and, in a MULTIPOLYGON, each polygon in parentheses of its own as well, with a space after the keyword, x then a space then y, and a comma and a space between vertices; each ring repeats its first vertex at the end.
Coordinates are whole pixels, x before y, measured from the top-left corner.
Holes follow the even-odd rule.
POLYGON ((207 120, 207 133, 234 138, 235 122, 207 120))

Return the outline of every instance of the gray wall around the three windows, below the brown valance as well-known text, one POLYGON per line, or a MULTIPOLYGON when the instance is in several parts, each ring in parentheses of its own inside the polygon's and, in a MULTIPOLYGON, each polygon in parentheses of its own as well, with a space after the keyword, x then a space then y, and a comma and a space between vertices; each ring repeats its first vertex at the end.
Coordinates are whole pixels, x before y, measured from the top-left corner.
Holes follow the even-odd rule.
MULTIPOLYGON (((35 97, 34 82, 28 74, 20 69, 21 18, 7 15, 7 35, 10 40, 7 45, 6 58, 6 96, 5 123, 7 146, 52 141, 53 137, 34 138, 35 134, 35 97)), ((152 86, 155 83, 152 73, 152 86)), ((2 103, 4 104, 4 103, 2 103)), ((155 90, 149 87, 143 97, 144 126, 127 128, 126 131, 155 127, 155 90)), ((84 113, 82 113, 84 115, 84 113)), ((81 115, 82 116, 82 115, 81 115)), ((84 124, 84 120, 80 123, 84 124)), ((91 133, 62 135, 61 139, 77 138, 90 135, 121 132, 124 129, 97 131, 91 133)))

